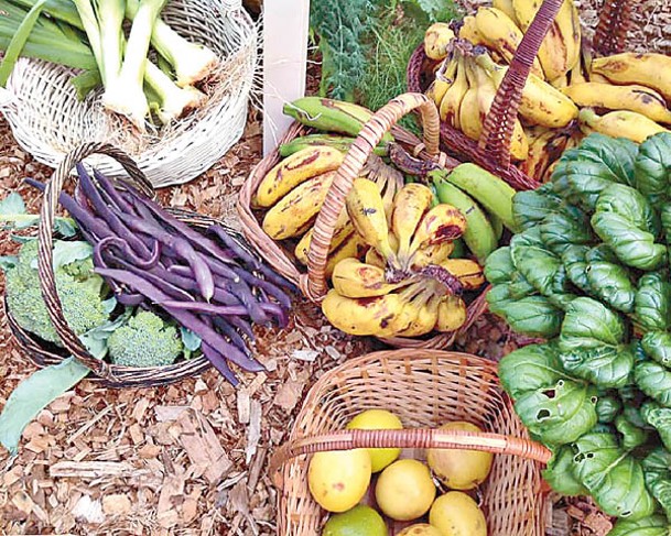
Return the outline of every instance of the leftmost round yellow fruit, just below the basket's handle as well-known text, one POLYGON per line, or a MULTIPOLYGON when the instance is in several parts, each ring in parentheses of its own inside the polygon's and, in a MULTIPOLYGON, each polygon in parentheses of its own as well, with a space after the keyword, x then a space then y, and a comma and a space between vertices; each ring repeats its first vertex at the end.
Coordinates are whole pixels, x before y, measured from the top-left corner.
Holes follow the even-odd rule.
POLYGON ((345 512, 355 506, 369 483, 370 456, 366 449, 316 452, 310 460, 310 492, 329 512, 345 512))

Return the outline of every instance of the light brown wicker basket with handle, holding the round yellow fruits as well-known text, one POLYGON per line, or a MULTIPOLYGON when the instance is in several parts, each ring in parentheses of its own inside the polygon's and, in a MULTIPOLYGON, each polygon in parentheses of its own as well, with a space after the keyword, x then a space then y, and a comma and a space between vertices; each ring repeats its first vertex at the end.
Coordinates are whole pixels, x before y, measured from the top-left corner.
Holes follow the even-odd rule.
POLYGON ((481 488, 490 536, 542 536, 545 495, 541 468, 550 458, 530 441, 496 378, 496 364, 465 353, 394 350, 362 355, 326 372, 310 390, 289 441, 273 456, 270 474, 280 489, 282 536, 320 534, 325 512, 307 488, 309 453, 362 447, 403 447, 412 457, 425 448, 495 452, 481 488), (389 408, 404 430, 343 430, 365 409, 389 408), (467 420, 486 433, 441 431, 467 420), (343 430, 343 431, 336 431, 343 430))

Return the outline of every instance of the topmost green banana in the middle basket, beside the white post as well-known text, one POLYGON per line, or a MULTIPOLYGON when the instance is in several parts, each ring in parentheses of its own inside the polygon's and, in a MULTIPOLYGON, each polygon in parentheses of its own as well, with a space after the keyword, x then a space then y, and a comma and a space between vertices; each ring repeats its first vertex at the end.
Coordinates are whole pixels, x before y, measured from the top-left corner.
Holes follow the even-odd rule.
MULTIPOLYGON (((285 103, 282 111, 306 127, 347 135, 358 135, 364 123, 372 117, 362 106, 323 97, 302 97, 285 103)), ((382 142, 392 140, 389 132, 382 136, 382 142)))

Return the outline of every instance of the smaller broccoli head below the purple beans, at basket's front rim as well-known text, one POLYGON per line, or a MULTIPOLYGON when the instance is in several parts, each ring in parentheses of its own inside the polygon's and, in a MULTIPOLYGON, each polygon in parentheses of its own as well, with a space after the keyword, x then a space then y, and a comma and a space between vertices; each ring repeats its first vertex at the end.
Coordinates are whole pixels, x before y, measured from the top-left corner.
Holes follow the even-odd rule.
POLYGON ((149 310, 139 310, 107 343, 112 363, 126 367, 163 367, 184 350, 177 329, 149 310))

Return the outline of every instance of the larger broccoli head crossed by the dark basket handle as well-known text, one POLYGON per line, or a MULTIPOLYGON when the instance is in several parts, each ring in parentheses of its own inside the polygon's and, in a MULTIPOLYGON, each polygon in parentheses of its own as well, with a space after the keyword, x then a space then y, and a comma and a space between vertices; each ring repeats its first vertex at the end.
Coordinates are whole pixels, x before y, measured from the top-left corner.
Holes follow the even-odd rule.
MULTIPOLYGON (((63 314, 76 335, 84 335, 108 319, 101 299, 104 281, 87 267, 88 261, 75 261, 54 274, 63 314)), ((7 305, 19 326, 61 346, 42 298, 36 263, 37 241, 33 240, 23 244, 17 265, 6 273, 7 305)))

